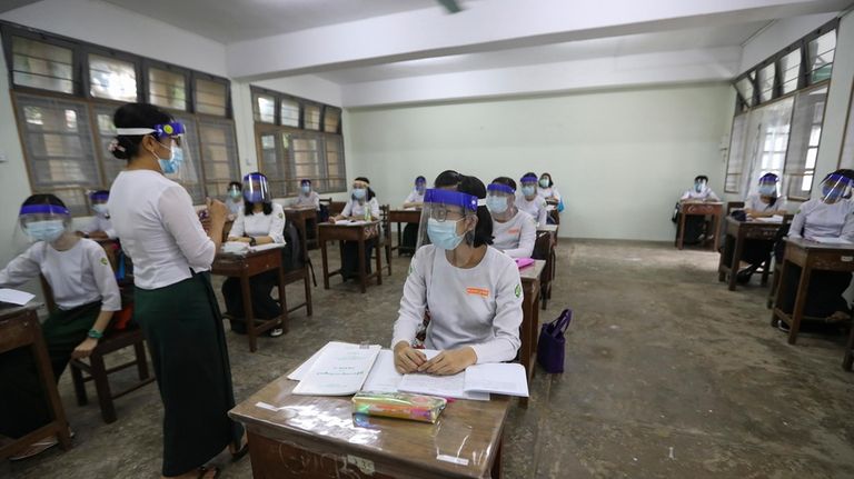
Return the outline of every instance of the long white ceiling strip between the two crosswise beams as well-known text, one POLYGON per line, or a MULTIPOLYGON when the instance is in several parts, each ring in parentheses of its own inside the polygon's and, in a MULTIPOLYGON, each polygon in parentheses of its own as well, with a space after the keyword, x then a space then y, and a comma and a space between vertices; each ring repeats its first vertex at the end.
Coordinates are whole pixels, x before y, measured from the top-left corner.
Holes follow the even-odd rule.
POLYGON ((767 23, 767 21, 758 21, 722 27, 607 37, 539 47, 425 58, 315 74, 339 84, 348 84, 395 78, 469 70, 490 70, 594 58, 613 58, 662 51, 738 47, 767 23))

